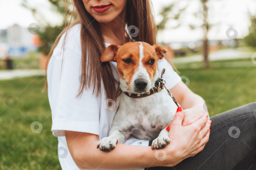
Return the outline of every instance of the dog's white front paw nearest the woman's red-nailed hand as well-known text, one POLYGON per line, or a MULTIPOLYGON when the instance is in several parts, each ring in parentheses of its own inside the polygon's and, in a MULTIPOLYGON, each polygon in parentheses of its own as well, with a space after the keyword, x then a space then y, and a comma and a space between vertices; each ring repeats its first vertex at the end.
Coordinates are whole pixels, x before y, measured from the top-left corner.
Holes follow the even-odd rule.
POLYGON ((169 132, 165 129, 163 129, 158 137, 153 140, 151 148, 153 149, 162 149, 164 148, 166 145, 168 145, 170 143, 170 138, 168 136, 169 132))

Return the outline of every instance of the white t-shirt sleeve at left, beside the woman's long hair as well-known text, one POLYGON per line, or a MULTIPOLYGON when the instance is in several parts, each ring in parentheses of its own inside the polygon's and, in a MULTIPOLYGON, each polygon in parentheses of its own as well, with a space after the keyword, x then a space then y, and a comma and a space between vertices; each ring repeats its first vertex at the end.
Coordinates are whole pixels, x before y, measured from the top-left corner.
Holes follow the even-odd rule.
POLYGON ((82 95, 76 97, 80 87, 81 47, 80 39, 75 38, 70 32, 64 52, 61 48, 62 38, 48 65, 48 97, 54 136, 64 136, 64 130, 100 133, 100 101, 92 94, 92 88, 84 89, 82 95))

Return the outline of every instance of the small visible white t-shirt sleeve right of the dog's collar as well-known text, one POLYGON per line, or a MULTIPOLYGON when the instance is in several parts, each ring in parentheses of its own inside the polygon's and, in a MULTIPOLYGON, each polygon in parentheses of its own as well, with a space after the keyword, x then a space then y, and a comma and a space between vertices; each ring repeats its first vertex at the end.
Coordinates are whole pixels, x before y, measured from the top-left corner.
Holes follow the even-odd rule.
POLYGON ((181 81, 180 76, 176 71, 174 71, 173 67, 165 58, 157 61, 157 67, 159 77, 161 77, 162 70, 165 69, 162 78, 165 79, 165 85, 168 87, 168 89, 173 88, 181 81))

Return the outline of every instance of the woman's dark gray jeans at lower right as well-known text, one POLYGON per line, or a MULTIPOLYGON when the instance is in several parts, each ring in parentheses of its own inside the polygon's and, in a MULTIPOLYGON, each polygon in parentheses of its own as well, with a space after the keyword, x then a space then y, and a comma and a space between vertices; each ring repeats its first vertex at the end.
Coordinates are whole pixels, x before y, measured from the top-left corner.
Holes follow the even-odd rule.
MULTIPOLYGON (((227 169, 240 164, 241 169, 254 169, 256 155, 252 163, 241 163, 256 149, 256 103, 226 111, 210 117, 210 138, 204 150, 181 161, 174 167, 149 167, 145 170, 165 169, 227 169), (240 163, 239 163, 240 162, 240 163), (254 166, 253 166, 254 163, 254 166), (244 167, 241 167, 243 166, 244 167)), ((151 141, 150 141, 151 142, 151 141)), ((151 143, 149 145, 151 146, 151 143)))

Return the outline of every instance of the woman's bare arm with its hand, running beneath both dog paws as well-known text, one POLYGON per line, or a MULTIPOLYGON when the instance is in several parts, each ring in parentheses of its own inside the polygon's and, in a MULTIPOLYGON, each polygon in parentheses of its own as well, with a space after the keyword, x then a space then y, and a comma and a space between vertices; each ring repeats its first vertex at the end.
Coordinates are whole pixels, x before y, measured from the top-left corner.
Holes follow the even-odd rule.
MULTIPOLYGON (((137 169, 155 166, 174 166, 187 157, 194 156, 209 139, 210 121, 201 116, 189 126, 181 125, 184 112, 177 112, 170 123, 171 144, 163 150, 166 157, 160 161, 150 146, 117 144, 114 150, 103 152, 96 148, 98 136, 91 133, 65 131, 67 145, 76 165, 81 169, 137 169)), ((159 155, 160 156, 160 155, 159 155)), ((161 155, 162 156, 162 155, 161 155)), ((160 157, 161 157, 160 156, 160 157)))

